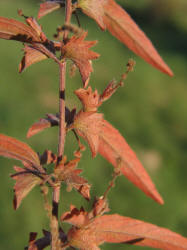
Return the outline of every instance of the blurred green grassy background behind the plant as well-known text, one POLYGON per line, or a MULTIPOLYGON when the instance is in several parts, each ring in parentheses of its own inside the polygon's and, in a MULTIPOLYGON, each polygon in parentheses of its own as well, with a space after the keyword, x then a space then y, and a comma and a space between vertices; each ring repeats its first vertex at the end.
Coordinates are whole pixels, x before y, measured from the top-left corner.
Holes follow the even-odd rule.
MULTIPOLYGON (((135 150, 159 192, 165 200, 160 206, 146 197, 124 177, 117 180, 109 194, 112 213, 119 213, 167 227, 187 236, 187 1, 141 0, 118 1, 152 40, 159 53, 174 71, 168 77, 135 56, 108 32, 101 32, 94 21, 80 14, 82 27, 89 30, 88 39, 99 40, 94 50, 101 54, 93 62, 90 84, 101 92, 113 78, 119 79, 129 58, 136 60, 125 87, 106 103, 100 111, 119 129, 135 150)), ((37 15, 38 0, 1 0, 0 16, 21 20, 17 9, 25 15, 37 15)), ((75 20, 73 19, 75 22, 75 20)), ((54 12, 40 23, 52 38, 63 13, 54 12)), ((49 129, 27 140, 29 126, 46 113, 58 110, 58 68, 52 61, 44 61, 18 73, 22 58, 22 44, 0 41, 0 133, 19 138, 38 152, 56 151, 57 128, 49 129)), ((80 105, 73 90, 81 86, 80 76, 67 79, 67 105, 80 105)), ((76 141, 67 136, 66 153, 72 156, 76 141)), ((27 244, 29 232, 48 229, 39 188, 35 188, 20 208, 12 208, 13 185, 9 174, 14 160, 0 158, 0 249, 20 250, 27 244)), ((91 159, 87 150, 80 163, 84 176, 92 184, 92 196, 100 196, 107 188, 113 167, 102 157, 91 159)), ((90 205, 76 192, 67 193, 62 187, 61 211, 72 203, 80 207, 90 205)), ((102 249, 138 249, 122 244, 105 244, 102 249)), ((141 249, 141 248, 140 248, 141 249)), ((144 249, 144 248, 143 248, 144 249)), ((149 249, 149 248, 146 248, 149 249)))

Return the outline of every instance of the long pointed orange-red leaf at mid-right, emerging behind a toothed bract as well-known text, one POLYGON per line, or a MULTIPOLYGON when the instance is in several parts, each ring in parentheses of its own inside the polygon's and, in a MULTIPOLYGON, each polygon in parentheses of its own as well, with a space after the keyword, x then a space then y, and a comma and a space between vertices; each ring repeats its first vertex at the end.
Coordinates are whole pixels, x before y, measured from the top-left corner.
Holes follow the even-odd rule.
POLYGON ((98 152, 146 195, 163 204, 162 197, 133 150, 119 131, 105 120, 102 122, 98 152))

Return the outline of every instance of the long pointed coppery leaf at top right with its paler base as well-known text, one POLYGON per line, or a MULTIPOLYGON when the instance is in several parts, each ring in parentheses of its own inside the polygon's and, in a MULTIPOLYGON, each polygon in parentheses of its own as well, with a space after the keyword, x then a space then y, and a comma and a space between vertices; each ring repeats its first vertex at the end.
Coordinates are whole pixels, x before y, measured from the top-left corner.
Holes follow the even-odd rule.
POLYGON ((83 12, 95 19, 102 29, 106 27, 135 54, 160 71, 173 76, 173 72, 157 53, 151 41, 114 0, 79 0, 78 2, 83 12))

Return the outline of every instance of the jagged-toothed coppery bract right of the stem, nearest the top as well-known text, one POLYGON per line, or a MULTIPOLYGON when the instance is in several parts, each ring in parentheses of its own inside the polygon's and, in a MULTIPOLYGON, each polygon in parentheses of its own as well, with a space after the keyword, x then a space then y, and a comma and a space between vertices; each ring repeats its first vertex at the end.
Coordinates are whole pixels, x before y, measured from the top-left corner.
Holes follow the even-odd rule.
POLYGON ((93 71, 91 60, 97 59, 99 54, 89 50, 96 44, 96 41, 84 41, 87 32, 81 36, 73 36, 63 47, 64 58, 71 59, 79 68, 84 87, 87 86, 90 73, 93 71))

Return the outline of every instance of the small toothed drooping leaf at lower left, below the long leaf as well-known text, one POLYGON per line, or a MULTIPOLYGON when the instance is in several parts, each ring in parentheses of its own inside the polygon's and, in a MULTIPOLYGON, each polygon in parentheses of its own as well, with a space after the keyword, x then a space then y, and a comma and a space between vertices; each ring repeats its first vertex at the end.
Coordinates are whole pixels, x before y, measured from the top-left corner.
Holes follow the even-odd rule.
POLYGON ((16 174, 13 174, 11 177, 16 180, 16 184, 14 186, 14 209, 17 209, 23 198, 27 196, 27 194, 37 185, 41 183, 41 179, 36 175, 28 172, 27 170, 14 167, 16 174))

